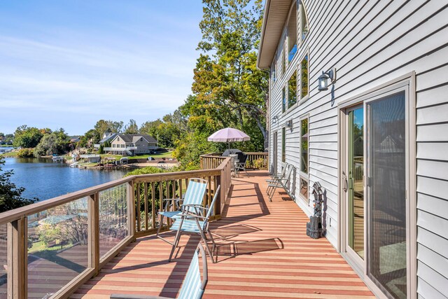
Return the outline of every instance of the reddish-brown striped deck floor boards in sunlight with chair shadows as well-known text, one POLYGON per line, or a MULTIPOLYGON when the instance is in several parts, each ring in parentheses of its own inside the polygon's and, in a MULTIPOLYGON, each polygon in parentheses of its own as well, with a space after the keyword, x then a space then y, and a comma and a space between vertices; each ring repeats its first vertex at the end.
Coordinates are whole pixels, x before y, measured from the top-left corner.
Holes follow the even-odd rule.
MULTIPOLYGON (((305 233, 307 216, 286 193, 265 195, 266 172, 233 180, 223 219, 211 224, 218 263, 209 260, 204 298, 374 298, 327 239, 305 233)), ((167 232, 174 239, 173 232, 167 232)), ((171 246, 155 237, 130 244, 72 295, 109 298, 111 293, 175 297, 198 237, 183 235, 172 263, 171 246)))

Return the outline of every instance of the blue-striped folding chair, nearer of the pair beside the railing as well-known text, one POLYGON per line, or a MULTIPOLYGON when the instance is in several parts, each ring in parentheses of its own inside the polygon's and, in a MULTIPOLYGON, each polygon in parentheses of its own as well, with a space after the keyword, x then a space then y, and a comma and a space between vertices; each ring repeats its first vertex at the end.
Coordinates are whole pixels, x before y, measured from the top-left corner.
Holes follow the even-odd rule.
POLYGON ((174 244, 171 249, 171 253, 169 253, 169 261, 172 260, 172 256, 174 253, 174 249, 179 244, 179 240, 181 239, 181 232, 190 232, 190 233, 196 233, 201 236, 202 241, 204 241, 205 249, 207 249, 207 253, 209 253, 209 256, 211 258, 211 261, 213 263, 216 263, 216 261, 213 258, 213 252, 216 248, 216 243, 213 238, 213 235, 211 235, 211 232, 209 230, 209 219, 211 216, 211 213, 214 210, 216 199, 218 198, 221 190, 221 186, 218 186, 215 191, 215 195, 213 197, 213 200, 211 201, 210 207, 200 207, 197 205, 189 205, 184 204, 184 210, 183 213, 179 215, 181 218, 177 218, 176 221, 173 223, 170 230, 177 230, 176 232, 176 238, 174 239, 174 244), (206 214, 207 212, 207 214, 206 214), (204 215, 205 216, 202 216, 204 215), (209 234, 209 237, 211 239, 211 242, 213 244, 213 249, 210 250, 209 244, 207 243, 207 237, 206 234, 209 234))

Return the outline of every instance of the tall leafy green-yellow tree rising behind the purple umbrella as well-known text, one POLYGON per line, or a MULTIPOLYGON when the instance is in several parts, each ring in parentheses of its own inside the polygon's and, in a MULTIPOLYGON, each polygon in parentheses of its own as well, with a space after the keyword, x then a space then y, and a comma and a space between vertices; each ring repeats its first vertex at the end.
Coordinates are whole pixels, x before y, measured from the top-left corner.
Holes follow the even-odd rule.
POLYGON ((183 109, 202 132, 257 127, 248 144, 264 150, 268 75, 256 68, 262 1, 204 0, 204 6, 198 45, 204 54, 194 71, 193 96, 183 109))

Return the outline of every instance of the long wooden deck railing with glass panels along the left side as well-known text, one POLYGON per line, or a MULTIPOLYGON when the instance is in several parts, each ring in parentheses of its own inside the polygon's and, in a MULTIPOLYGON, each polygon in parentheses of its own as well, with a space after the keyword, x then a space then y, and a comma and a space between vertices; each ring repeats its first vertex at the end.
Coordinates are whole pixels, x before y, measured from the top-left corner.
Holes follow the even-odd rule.
POLYGON ((230 158, 213 169, 127 176, 1 213, 0 298, 68 297, 136 237, 154 234, 162 198, 182 197, 193 177, 209 182, 204 204, 221 186, 213 216, 221 218, 230 158))

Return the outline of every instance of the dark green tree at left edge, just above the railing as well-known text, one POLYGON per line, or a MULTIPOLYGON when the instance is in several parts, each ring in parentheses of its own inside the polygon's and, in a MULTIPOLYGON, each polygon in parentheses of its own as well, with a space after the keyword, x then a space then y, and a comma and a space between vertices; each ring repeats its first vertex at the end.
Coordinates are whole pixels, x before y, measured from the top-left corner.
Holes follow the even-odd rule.
POLYGON ((22 193, 25 191, 25 188, 18 188, 14 183, 10 182, 10 177, 13 175, 13 170, 3 172, 1 167, 4 164, 4 158, 0 157, 0 213, 36 202, 38 200, 37 198, 27 200, 22 197, 22 193))

